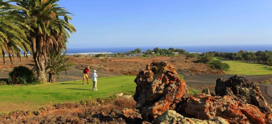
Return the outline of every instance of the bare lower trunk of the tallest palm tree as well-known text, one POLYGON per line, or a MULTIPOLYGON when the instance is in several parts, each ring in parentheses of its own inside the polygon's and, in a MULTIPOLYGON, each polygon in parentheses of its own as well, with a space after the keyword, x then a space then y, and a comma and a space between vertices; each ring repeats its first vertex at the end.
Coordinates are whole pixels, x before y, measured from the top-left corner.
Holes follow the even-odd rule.
MULTIPOLYGON (((42 56, 42 55, 41 55, 42 56)), ((45 77, 45 60, 44 56, 38 57, 36 53, 33 53, 33 59, 36 65, 37 79, 42 82, 46 82, 45 77)))

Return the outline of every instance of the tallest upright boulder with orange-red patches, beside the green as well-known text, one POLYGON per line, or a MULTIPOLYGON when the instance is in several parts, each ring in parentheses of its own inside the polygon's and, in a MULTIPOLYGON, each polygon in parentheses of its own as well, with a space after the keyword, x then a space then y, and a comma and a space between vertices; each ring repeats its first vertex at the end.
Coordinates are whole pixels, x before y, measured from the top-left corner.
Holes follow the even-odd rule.
POLYGON ((188 95, 188 89, 179 78, 175 67, 167 61, 153 62, 140 71, 134 81, 137 84, 134 100, 144 120, 151 122, 188 95))

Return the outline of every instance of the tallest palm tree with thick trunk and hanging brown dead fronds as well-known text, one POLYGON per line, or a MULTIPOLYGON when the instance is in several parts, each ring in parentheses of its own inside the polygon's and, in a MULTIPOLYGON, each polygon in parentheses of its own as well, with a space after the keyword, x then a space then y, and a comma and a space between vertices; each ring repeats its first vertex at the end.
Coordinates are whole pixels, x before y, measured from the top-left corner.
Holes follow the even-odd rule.
POLYGON ((75 27, 69 23, 72 18, 65 8, 56 4, 59 0, 11 0, 20 7, 19 11, 31 27, 27 36, 31 46, 37 79, 46 81, 46 64, 49 63, 50 53, 66 50, 69 32, 76 32, 75 27))

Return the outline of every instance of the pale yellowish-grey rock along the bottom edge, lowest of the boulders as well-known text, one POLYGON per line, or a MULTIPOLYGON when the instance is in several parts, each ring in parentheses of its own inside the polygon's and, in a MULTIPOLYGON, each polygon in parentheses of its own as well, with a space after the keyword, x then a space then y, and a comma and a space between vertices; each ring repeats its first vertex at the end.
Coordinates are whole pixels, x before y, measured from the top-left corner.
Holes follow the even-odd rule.
POLYGON ((212 120, 199 120, 195 118, 185 118, 174 110, 168 110, 163 115, 155 118, 153 124, 229 124, 227 120, 216 117, 212 120))

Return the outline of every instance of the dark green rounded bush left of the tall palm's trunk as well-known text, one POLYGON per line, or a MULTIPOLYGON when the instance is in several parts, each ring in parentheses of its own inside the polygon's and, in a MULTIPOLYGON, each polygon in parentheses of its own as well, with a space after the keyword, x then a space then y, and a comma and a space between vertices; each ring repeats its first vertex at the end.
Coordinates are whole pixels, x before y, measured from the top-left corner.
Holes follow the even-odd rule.
POLYGON ((9 72, 8 84, 33 84, 37 83, 33 71, 25 66, 16 66, 9 72))

